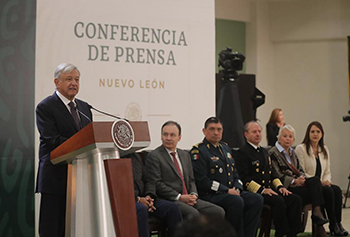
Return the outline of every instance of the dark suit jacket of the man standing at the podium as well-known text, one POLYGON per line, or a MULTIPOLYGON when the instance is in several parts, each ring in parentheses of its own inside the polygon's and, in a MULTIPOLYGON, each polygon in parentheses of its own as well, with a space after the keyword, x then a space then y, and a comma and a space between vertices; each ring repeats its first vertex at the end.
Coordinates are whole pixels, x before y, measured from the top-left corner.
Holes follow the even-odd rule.
MULTIPOLYGON (((75 102, 77 109, 90 118, 89 121, 80 116, 84 127, 91 122, 92 113, 86 102, 78 99, 75 99, 75 102)), ((40 133, 36 192, 64 195, 67 187, 67 165, 53 165, 50 152, 78 132, 79 128, 56 92, 38 104, 36 123, 40 133)))

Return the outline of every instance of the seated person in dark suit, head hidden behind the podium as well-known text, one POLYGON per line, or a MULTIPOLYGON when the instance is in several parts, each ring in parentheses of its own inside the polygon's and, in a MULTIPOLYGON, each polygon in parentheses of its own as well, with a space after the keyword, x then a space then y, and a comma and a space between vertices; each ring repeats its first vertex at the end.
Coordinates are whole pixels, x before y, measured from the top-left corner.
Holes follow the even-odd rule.
POLYGON ((182 222, 179 207, 173 202, 157 198, 155 184, 150 182, 140 155, 132 153, 125 157, 132 161, 139 237, 150 236, 149 215, 164 220, 169 236, 174 236, 177 225, 182 222))

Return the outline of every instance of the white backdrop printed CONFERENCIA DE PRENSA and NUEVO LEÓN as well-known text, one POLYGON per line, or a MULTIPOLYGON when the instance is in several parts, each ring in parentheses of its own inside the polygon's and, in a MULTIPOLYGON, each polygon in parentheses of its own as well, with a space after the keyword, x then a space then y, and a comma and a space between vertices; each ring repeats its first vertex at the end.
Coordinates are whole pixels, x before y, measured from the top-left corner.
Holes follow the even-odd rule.
MULTIPOLYGON (((53 93, 58 64, 70 62, 81 72, 77 97, 148 121, 149 148, 167 120, 183 128, 179 147, 202 139, 215 114, 213 0, 38 0, 37 14, 36 103, 53 93)), ((94 120, 113 119, 94 112, 94 120)))

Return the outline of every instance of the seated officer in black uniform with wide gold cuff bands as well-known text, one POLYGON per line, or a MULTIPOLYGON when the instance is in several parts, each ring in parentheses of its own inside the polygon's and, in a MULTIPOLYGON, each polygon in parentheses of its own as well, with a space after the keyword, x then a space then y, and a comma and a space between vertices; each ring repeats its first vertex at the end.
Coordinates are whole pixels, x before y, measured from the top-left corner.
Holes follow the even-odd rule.
POLYGON ((261 194, 264 203, 271 206, 275 236, 296 236, 301 231, 302 200, 288 191, 276 176, 267 151, 259 145, 260 124, 248 122, 244 130, 247 143, 239 149, 236 158, 244 188, 261 194))

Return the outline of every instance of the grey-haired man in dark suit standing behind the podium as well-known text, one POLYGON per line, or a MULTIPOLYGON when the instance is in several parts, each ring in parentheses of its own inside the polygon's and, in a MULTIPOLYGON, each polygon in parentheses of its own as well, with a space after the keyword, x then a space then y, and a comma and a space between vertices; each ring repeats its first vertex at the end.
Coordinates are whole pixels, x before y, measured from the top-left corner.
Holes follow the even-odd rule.
POLYGON ((69 63, 54 73, 56 91, 36 108, 40 133, 36 192, 41 193, 39 235, 64 236, 66 216, 67 165, 53 165, 50 152, 92 121, 88 104, 75 96, 80 72, 69 63))

